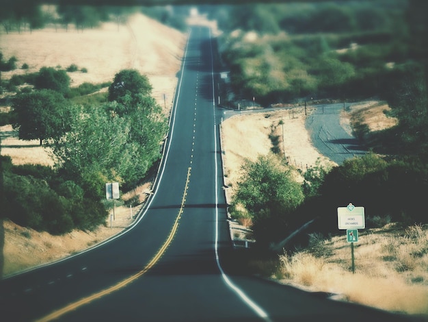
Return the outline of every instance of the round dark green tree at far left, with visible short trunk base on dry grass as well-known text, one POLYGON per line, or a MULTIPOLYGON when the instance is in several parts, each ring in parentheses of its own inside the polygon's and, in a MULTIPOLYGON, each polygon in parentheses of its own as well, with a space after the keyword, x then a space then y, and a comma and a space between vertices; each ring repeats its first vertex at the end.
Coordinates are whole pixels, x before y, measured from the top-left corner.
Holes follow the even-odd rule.
POLYGON ((68 101, 54 90, 17 95, 12 103, 13 127, 21 140, 56 138, 70 127, 68 101))

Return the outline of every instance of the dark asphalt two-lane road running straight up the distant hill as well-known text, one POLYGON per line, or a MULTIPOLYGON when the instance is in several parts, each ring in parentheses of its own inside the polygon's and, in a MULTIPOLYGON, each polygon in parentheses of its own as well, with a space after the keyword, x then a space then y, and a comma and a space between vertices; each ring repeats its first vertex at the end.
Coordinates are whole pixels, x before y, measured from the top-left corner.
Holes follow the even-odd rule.
POLYGON ((410 321, 224 269, 211 34, 193 27, 153 195, 126 232, 0 282, 1 321, 410 321))

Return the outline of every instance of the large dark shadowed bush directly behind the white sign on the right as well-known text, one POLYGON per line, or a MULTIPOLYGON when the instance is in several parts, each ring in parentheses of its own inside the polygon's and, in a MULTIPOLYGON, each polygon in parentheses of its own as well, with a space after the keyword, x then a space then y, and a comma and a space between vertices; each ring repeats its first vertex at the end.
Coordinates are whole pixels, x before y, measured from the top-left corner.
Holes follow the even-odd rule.
POLYGON ((367 227, 384 221, 428 221, 425 212, 420 211, 428 195, 428 169, 422 160, 387 162, 374 154, 350 159, 325 175, 319 193, 321 197, 310 201, 310 209, 321 210, 324 221, 337 207, 349 202, 364 206, 367 227))

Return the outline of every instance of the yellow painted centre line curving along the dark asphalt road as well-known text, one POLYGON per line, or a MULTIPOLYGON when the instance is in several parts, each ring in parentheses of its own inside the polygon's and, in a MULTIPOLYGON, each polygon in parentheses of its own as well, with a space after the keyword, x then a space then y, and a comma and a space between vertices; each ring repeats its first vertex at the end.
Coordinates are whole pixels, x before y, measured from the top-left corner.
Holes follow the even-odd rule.
POLYGON ((155 266, 157 261, 163 256, 163 253, 165 253, 168 246, 170 246, 172 240, 174 239, 174 235, 176 234, 176 231, 178 228, 178 221, 180 221, 181 214, 183 214, 183 208, 185 207, 185 201, 186 201, 186 196, 187 196, 187 188, 189 186, 189 179, 190 179, 190 171, 191 171, 191 167, 189 167, 189 169, 187 170, 186 186, 185 186, 185 190, 183 193, 183 199, 181 200, 180 211, 178 212, 178 215, 176 217, 174 225, 172 226, 172 230, 170 232, 170 235, 165 240, 165 243, 163 243, 163 245, 159 249, 159 251, 157 251, 156 255, 152 258, 152 260, 150 260, 150 262, 146 265, 146 267, 144 267, 144 269, 142 269, 138 273, 132 275, 131 277, 126 278, 125 280, 119 282, 116 285, 113 285, 109 288, 106 288, 105 290, 101 290, 100 292, 94 293, 88 297, 83 297, 83 299, 79 299, 79 301, 75 301, 72 304, 68 304, 68 306, 64 306, 64 308, 60 308, 59 310, 56 310, 56 311, 52 312, 51 314, 48 314, 45 317, 42 317, 36 321, 37 322, 47 322, 47 321, 52 321, 52 320, 58 319, 59 317, 62 317, 62 315, 66 314, 68 312, 71 312, 72 310, 76 310, 80 306, 84 306, 85 304, 89 304, 91 301, 94 301, 95 299, 100 299, 101 297, 103 297, 105 295, 109 295, 109 294, 115 292, 116 290, 120 290, 120 288, 124 288, 125 286, 127 286, 131 282, 137 280, 137 278, 139 278, 142 275, 144 275, 145 273, 147 273, 147 271, 149 269, 151 269, 153 266, 155 266))

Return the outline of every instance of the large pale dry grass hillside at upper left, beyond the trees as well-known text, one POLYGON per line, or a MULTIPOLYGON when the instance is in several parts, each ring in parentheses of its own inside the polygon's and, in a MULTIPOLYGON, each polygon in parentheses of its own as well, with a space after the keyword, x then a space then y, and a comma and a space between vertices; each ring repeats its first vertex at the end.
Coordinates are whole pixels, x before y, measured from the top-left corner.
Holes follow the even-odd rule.
POLYGON ((88 69, 88 73, 68 73, 71 86, 79 86, 83 82, 111 82, 120 70, 137 69, 150 79, 153 97, 162 107, 170 108, 185 40, 185 34, 142 14, 131 16, 125 25, 104 23, 83 32, 72 28, 68 32, 45 28, 21 34, 0 31, 0 51, 5 59, 14 55, 18 66, 29 65, 28 70, 3 72, 1 76, 9 79, 43 66, 66 69, 76 64, 79 69, 88 69))

